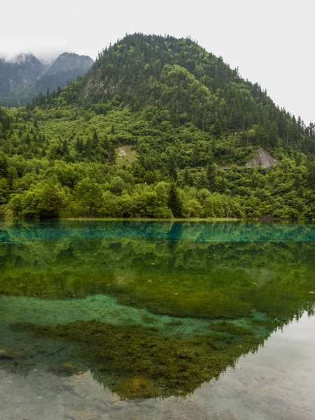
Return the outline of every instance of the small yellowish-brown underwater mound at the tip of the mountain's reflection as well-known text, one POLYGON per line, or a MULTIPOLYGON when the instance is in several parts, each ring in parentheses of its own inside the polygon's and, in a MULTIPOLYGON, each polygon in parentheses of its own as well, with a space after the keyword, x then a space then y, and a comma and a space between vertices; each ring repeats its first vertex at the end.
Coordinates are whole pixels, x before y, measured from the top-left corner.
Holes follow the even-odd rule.
POLYGON ((143 377, 132 377, 125 379, 116 386, 115 391, 121 398, 134 400, 137 398, 150 398, 157 394, 157 391, 151 381, 143 377))

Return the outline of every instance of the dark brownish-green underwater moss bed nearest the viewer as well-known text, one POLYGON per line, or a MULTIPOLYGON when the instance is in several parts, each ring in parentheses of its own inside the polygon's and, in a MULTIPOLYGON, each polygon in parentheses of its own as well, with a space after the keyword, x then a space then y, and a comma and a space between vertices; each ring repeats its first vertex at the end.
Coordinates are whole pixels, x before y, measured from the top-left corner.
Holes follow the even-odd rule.
POLYGON ((163 336, 157 328, 99 321, 55 326, 19 323, 14 328, 87 344, 80 357, 94 377, 102 382, 102 373, 115 372, 124 378, 125 382, 113 384, 113 389, 125 398, 140 398, 140 394, 141 398, 148 398, 192 393, 203 382, 218 378, 227 367, 234 366, 242 354, 256 351, 269 335, 242 334, 239 327, 237 334, 226 337, 222 332, 211 332, 181 339, 163 336), (134 379, 139 377, 141 381, 134 379))

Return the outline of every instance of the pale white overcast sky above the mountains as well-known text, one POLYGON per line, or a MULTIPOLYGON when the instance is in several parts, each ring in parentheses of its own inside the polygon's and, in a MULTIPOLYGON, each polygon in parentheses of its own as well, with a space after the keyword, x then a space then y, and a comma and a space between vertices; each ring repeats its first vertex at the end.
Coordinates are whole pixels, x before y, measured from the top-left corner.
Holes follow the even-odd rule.
POLYGON ((0 55, 90 55, 126 33, 190 35, 279 106, 315 120, 314 0, 15 0, 1 5, 0 55))

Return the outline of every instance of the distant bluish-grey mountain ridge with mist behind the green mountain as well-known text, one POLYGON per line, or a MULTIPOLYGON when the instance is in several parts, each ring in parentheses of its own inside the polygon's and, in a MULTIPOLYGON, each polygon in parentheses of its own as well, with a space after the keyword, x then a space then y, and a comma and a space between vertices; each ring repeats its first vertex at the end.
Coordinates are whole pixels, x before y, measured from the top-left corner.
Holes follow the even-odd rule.
POLYGON ((49 88, 57 90, 92 67, 87 55, 63 52, 52 64, 44 64, 33 54, 22 53, 14 59, 0 57, 0 105, 20 106, 49 88))

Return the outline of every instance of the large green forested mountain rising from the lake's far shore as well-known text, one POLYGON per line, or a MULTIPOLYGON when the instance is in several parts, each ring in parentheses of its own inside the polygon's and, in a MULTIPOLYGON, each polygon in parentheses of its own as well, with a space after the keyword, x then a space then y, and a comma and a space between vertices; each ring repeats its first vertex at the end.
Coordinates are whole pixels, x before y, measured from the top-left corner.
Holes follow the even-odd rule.
POLYGON ((314 125, 190 38, 125 36, 0 119, 3 214, 315 217, 314 125))

